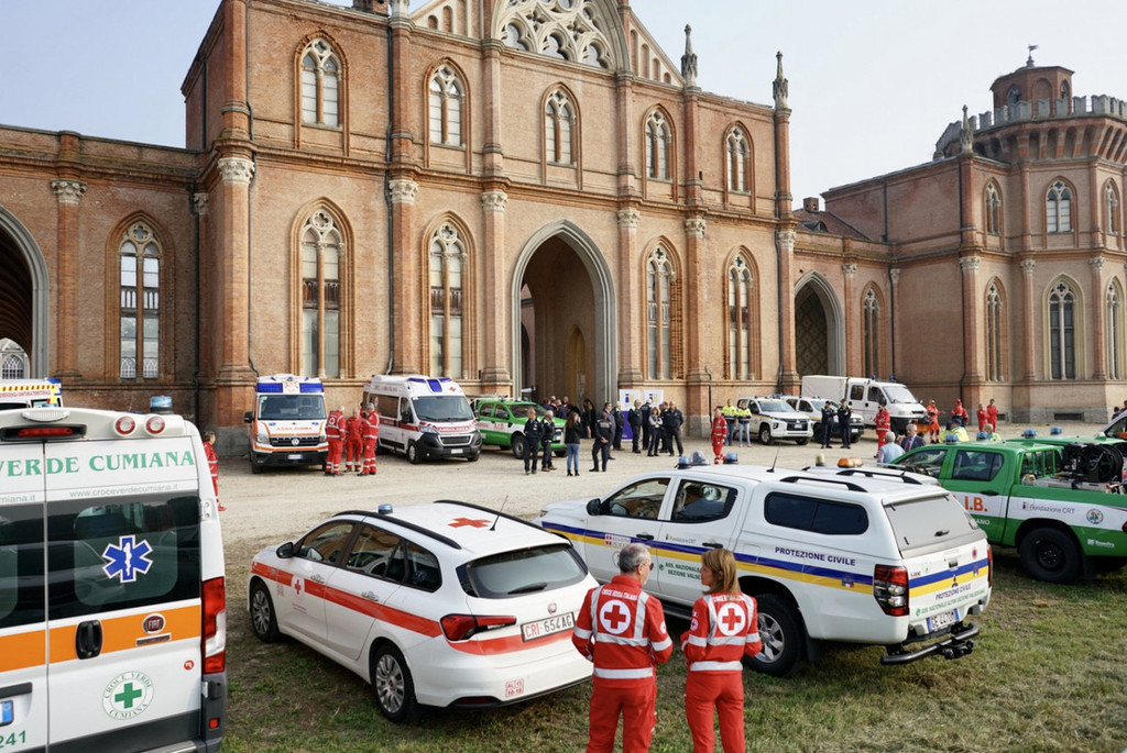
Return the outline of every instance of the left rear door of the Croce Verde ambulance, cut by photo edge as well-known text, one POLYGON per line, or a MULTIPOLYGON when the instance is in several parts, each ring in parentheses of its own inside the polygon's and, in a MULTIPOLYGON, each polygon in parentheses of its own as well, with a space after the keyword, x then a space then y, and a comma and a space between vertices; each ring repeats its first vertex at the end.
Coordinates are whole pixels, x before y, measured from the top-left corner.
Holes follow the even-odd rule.
POLYGON ((0 455, 0 751, 47 743, 43 448, 0 455))

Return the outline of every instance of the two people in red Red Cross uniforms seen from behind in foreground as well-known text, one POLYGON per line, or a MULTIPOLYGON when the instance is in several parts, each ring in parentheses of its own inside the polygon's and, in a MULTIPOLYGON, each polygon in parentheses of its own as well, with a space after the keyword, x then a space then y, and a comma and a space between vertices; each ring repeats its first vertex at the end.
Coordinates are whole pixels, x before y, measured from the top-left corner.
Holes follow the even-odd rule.
MULTIPOLYGON (((717 406, 717 410, 720 410, 717 406)), ((673 639, 665 611, 642 586, 654 562, 644 544, 619 552, 619 575, 587 592, 571 642, 594 664, 587 751, 614 750, 622 718, 622 751, 648 751, 657 721, 657 665, 669 661, 673 639)), ((713 711, 725 753, 743 752, 743 657, 762 649, 755 600, 740 592, 736 558, 728 549, 701 555, 704 595, 693 604, 681 636, 689 673, 685 719, 693 751, 715 750, 713 711)))

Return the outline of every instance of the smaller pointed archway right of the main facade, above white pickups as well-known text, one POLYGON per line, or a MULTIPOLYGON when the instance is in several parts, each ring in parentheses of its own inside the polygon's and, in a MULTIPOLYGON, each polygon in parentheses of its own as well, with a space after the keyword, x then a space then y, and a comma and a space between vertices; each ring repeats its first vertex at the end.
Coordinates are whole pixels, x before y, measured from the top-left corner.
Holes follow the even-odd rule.
POLYGON ((845 375, 845 326, 837 294, 810 272, 795 288, 795 367, 807 374, 845 375))

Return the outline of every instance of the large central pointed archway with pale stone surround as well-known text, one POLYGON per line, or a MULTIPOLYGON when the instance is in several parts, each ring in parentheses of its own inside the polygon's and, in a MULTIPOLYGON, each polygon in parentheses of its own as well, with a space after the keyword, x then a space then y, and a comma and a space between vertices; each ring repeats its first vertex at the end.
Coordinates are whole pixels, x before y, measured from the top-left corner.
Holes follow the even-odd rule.
POLYGON ((513 374, 518 394, 613 400, 618 351, 614 292, 602 252, 570 222, 525 244, 513 279, 513 374))

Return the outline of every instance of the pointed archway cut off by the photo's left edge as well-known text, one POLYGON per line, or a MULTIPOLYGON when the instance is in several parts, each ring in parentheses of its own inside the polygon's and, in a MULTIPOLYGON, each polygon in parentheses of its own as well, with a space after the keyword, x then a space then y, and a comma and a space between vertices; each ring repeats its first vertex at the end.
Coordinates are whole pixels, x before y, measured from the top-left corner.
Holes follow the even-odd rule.
POLYGON ((16 343, 27 358, 24 376, 45 377, 48 361, 47 266, 38 244, 0 206, 0 339, 16 343))

